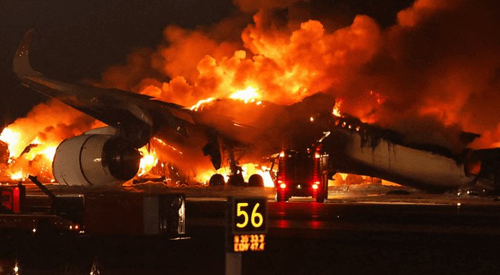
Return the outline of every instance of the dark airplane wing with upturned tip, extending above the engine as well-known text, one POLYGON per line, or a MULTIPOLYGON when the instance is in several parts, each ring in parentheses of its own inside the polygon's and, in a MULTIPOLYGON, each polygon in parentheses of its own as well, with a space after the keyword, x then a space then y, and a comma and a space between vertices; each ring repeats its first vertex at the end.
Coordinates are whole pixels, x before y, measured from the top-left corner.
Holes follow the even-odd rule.
POLYGON ((119 135, 135 148, 148 144, 153 137, 166 138, 191 152, 194 149, 203 152, 210 157, 215 169, 219 169, 220 142, 241 147, 254 141, 249 139, 254 136, 249 133, 255 133, 251 126, 225 114, 196 112, 125 90, 84 87, 46 78, 30 65, 34 33, 29 30, 25 34, 13 60, 13 70, 21 84, 117 128, 119 135))

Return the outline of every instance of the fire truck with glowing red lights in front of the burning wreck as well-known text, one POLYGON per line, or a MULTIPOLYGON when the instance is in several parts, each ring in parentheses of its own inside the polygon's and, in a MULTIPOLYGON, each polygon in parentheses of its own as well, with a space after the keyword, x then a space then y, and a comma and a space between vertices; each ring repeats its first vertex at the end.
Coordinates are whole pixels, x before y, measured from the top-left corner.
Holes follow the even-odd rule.
POLYGON ((325 202, 329 157, 321 151, 321 144, 302 150, 283 149, 275 158, 278 166, 276 201, 287 202, 290 197, 313 197, 315 202, 325 202))

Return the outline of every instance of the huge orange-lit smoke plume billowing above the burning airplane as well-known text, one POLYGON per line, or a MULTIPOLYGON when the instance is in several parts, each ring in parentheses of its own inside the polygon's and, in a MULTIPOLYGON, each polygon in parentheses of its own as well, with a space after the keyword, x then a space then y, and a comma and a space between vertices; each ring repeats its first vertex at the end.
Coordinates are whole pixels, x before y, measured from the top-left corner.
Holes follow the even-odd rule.
POLYGON ((301 1, 235 4, 242 15, 211 27, 165 27, 165 44, 133 52, 104 84, 186 106, 246 87, 277 104, 330 92, 342 111, 411 142, 459 152, 465 130, 483 135, 475 147, 499 145, 496 2, 417 0, 392 26, 358 15, 334 30, 304 18, 301 1))

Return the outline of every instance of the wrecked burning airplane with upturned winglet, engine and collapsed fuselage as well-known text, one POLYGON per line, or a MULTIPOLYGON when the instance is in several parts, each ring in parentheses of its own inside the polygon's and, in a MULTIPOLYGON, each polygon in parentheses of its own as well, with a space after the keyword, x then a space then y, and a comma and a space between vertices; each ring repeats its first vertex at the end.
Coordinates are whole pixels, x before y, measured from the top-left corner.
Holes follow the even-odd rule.
MULTIPOLYGON (((14 60, 22 84, 109 125, 63 140, 55 152, 49 150, 54 155, 54 178, 59 183, 106 185, 128 181, 139 171, 142 154, 138 148, 152 138, 168 140, 170 145, 163 142, 167 146, 156 148, 165 150, 183 169, 202 167, 206 164, 204 155, 220 169, 222 155, 227 152, 231 175, 236 176, 240 171, 235 156, 256 161, 278 152, 280 147, 304 148, 328 130, 319 142, 332 156, 330 176, 358 173, 427 190, 460 188, 482 179, 493 181, 493 188, 499 184, 499 149, 454 155, 437 145, 406 144, 395 132, 340 116, 342 101, 328 94, 313 94, 290 106, 263 101, 248 104, 251 99, 215 99, 187 109, 141 94, 51 80, 30 66, 32 33, 27 33, 14 60), (266 118, 273 119, 260 123, 266 118)), ((477 138, 463 135, 467 142, 477 138)))

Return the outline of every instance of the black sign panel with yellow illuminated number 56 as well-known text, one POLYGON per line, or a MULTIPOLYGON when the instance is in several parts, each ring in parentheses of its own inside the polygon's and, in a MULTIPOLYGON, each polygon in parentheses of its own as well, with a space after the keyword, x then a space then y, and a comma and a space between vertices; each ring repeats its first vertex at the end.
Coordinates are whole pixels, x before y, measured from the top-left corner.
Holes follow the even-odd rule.
POLYGON ((266 233, 267 199, 265 197, 232 198, 230 202, 232 234, 266 233))

